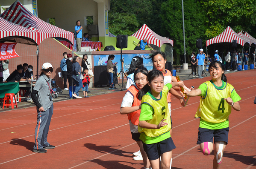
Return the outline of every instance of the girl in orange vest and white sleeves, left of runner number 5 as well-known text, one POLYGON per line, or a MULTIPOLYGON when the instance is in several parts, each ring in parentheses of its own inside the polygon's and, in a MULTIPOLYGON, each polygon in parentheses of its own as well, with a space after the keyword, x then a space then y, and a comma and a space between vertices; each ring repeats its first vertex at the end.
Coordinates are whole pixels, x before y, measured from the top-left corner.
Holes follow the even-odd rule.
POLYGON ((129 120, 130 131, 132 133, 132 139, 135 140, 140 147, 141 155, 134 157, 143 158, 143 163, 145 169, 151 169, 150 162, 147 158, 147 154, 143 149, 143 144, 139 139, 140 133, 138 132, 138 121, 141 113, 141 101, 137 98, 137 93, 147 84, 147 69, 139 68, 134 72, 134 82, 135 85, 132 85, 127 89, 125 96, 123 98, 120 113, 122 115, 127 114, 129 120))

